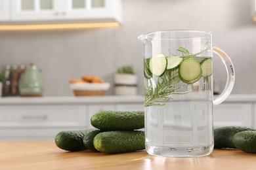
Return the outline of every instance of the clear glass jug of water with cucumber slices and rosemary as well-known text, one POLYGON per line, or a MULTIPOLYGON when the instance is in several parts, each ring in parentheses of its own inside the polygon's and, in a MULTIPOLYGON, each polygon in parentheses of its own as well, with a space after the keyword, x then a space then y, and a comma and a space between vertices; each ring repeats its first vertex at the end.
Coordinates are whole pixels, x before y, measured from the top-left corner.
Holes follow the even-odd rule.
POLYGON ((213 150, 213 105, 232 91, 234 66, 212 44, 212 33, 156 31, 144 42, 146 151, 154 156, 198 157, 213 150), (213 99, 213 52, 222 59, 226 86, 213 99))

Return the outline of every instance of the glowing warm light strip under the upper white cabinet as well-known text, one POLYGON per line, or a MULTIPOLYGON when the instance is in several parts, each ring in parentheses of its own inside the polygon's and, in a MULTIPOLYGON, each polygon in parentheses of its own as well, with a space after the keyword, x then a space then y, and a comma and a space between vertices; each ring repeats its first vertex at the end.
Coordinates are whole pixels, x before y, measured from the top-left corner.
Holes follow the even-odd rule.
POLYGON ((83 23, 83 24, 34 24, 34 25, 0 25, 0 31, 39 30, 39 29, 85 29, 96 27, 118 27, 118 22, 83 23))

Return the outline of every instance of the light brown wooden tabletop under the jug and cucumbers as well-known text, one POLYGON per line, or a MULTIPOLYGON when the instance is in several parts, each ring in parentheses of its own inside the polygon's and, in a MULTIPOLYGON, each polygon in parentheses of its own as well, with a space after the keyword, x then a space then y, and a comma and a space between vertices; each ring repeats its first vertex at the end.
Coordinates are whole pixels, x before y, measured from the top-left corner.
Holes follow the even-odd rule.
POLYGON ((256 154, 240 150, 213 150, 201 158, 160 158, 146 151, 103 154, 66 152, 54 142, 0 142, 0 169, 256 169, 256 154))

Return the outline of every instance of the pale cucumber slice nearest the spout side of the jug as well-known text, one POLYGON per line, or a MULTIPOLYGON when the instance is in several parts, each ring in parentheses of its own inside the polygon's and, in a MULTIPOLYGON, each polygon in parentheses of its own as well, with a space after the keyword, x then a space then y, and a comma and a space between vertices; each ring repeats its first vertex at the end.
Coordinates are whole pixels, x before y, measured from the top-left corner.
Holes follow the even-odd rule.
POLYGON ((158 54, 150 58, 149 62, 150 72, 154 76, 161 76, 165 73, 167 67, 167 59, 164 54, 158 54))

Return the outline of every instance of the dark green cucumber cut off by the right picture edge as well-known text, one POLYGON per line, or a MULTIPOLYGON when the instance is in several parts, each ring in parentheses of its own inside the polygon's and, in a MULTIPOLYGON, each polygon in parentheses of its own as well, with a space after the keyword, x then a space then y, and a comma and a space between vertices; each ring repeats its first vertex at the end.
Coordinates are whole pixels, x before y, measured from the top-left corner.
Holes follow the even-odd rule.
POLYGON ((247 153, 256 153, 256 131, 240 131, 233 137, 236 148, 247 153))

